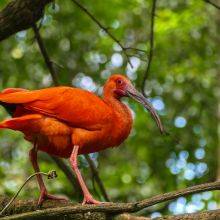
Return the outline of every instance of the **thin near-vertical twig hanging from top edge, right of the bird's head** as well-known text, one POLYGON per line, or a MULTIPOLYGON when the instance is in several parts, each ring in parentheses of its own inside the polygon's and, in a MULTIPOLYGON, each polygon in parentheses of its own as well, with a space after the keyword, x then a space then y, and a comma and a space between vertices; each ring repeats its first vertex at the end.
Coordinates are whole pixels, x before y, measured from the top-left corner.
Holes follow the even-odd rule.
POLYGON ((155 21, 156 3, 157 3, 157 0, 153 0, 152 9, 151 9, 150 51, 148 55, 148 64, 147 64, 146 71, 144 73, 144 78, 143 78, 142 87, 141 87, 143 94, 145 94, 145 91, 144 91, 145 82, 150 73, 151 63, 152 63, 153 54, 154 54, 154 21, 155 21))

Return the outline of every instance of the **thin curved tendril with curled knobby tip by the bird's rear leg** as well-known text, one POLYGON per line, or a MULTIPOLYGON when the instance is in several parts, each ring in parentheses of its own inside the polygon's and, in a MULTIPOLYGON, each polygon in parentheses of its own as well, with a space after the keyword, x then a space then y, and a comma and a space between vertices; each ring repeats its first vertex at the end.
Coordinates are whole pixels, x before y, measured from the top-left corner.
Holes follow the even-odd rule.
POLYGON ((0 216, 3 215, 3 213, 9 208, 9 206, 12 204, 12 202, 17 198, 18 194, 21 192, 21 190, 23 189, 23 187, 29 182, 29 180, 31 180, 34 176, 36 175, 45 175, 48 177, 48 179, 54 179, 57 177, 56 171, 52 170, 49 171, 48 173, 44 173, 44 172, 36 172, 34 174, 32 174, 31 176, 29 176, 24 183, 21 185, 21 187, 19 188, 19 190, 16 192, 16 194, 12 197, 12 199, 8 202, 8 204, 2 209, 2 211, 0 212, 0 216))

